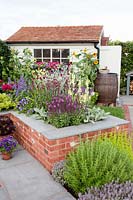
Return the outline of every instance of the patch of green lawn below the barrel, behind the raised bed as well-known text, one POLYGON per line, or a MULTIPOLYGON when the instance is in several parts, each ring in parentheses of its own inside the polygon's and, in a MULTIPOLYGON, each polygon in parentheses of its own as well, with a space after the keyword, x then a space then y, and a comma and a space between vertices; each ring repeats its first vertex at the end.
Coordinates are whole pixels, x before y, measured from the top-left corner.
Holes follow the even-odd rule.
POLYGON ((111 115, 115 117, 119 117, 121 119, 125 119, 124 110, 121 107, 109 107, 109 106, 100 106, 105 112, 109 112, 111 115))

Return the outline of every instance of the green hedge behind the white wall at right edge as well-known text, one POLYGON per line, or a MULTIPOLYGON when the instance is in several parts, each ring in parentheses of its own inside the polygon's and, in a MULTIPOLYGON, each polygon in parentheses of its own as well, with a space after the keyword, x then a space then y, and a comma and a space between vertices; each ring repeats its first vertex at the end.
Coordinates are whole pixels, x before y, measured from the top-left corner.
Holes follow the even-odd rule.
POLYGON ((126 73, 133 70, 133 41, 113 41, 110 42, 110 45, 122 46, 120 88, 121 94, 125 94, 127 81, 126 73))

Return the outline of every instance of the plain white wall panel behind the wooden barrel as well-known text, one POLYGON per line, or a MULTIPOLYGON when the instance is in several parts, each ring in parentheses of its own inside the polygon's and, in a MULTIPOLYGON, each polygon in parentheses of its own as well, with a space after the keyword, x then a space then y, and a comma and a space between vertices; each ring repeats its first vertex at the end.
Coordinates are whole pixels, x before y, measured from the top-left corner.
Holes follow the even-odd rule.
POLYGON ((110 73, 118 74, 118 96, 120 91, 121 50, 121 46, 101 46, 99 61, 100 68, 107 66, 110 73))

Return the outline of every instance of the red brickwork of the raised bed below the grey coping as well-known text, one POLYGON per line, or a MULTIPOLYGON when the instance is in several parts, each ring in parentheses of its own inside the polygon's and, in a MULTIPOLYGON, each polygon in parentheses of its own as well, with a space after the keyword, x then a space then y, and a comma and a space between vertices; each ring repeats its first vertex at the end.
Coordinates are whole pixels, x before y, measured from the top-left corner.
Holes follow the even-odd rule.
POLYGON ((128 130, 128 123, 126 122, 125 124, 117 125, 112 128, 102 129, 101 127, 101 130, 89 131, 80 135, 77 132, 77 134, 73 136, 48 139, 45 135, 30 127, 15 115, 11 113, 7 115, 13 120, 16 126, 15 137, 18 142, 49 171, 51 171, 55 162, 65 158, 68 152, 74 148, 81 138, 92 139, 94 136, 103 133, 128 130))

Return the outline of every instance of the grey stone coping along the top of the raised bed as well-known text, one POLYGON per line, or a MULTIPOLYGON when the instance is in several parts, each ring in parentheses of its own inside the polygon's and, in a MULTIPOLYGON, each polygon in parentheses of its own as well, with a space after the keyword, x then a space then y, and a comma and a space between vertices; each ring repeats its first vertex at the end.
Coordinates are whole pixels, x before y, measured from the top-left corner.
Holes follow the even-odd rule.
POLYGON ((87 124, 80 124, 77 126, 69 126, 64 128, 56 128, 50 124, 45 123, 43 120, 37 120, 34 115, 26 116, 25 114, 19 114, 15 111, 8 111, 8 112, 0 112, 1 114, 9 114, 11 113, 25 124, 31 127, 47 137, 49 140, 55 140, 70 136, 82 135, 84 133, 94 132, 103 129, 109 129, 113 127, 117 127, 120 125, 128 124, 129 121, 120 119, 114 116, 109 115, 104 120, 97 121, 95 123, 87 123, 87 124))

